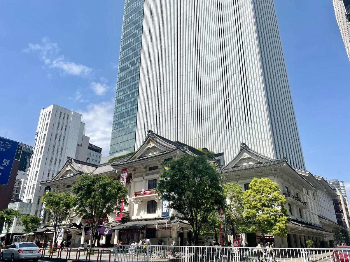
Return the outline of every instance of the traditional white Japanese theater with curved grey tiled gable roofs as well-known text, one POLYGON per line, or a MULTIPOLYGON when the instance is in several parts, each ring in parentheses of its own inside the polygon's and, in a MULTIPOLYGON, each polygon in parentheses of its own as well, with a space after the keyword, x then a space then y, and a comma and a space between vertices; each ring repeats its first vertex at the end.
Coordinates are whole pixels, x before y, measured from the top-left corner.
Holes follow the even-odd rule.
MULTIPOLYGON (((173 238, 177 245, 184 245, 191 238, 191 226, 176 210, 169 209, 167 201, 154 191, 165 162, 183 154, 197 156, 203 153, 148 131, 144 143, 132 157, 101 165, 68 158, 57 176, 41 181, 40 185, 69 191, 82 173, 118 179, 128 189, 129 206, 105 219, 98 230, 97 246, 111 247, 140 239, 150 239, 151 245, 157 245, 160 239, 170 244, 173 238)), ((224 183, 239 183, 245 190, 254 177, 269 177, 279 184, 281 194, 287 199, 289 233, 287 238, 270 236, 276 247, 305 247, 308 239, 318 243, 333 239, 332 231, 338 225, 332 198, 337 195, 322 177, 293 168, 285 158, 272 159, 261 155, 244 143, 236 157, 222 168, 224 183)), ((75 213, 71 213, 68 220, 58 242, 69 240, 70 247, 79 247, 90 239, 88 221, 75 213)), ((261 240, 259 232, 241 237, 250 246, 256 246, 261 240)))

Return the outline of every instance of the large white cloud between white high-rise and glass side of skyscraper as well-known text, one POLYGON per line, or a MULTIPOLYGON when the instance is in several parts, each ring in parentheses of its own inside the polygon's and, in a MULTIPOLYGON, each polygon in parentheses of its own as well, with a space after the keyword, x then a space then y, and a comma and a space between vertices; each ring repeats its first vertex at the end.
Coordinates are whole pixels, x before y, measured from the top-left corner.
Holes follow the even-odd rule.
POLYGON ((102 147, 102 155, 107 156, 111 142, 113 100, 99 104, 89 104, 85 111, 78 110, 78 112, 83 115, 85 135, 90 137, 90 143, 102 147))

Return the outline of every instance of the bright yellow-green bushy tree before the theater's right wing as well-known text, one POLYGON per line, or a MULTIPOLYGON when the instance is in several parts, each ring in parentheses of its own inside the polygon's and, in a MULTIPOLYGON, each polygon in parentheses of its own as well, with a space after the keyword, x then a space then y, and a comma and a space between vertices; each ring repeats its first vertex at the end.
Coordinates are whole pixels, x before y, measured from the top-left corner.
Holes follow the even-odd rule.
POLYGON ((248 232, 287 236, 287 210, 285 196, 278 184, 268 178, 254 178, 248 190, 243 192, 244 219, 252 221, 248 232))

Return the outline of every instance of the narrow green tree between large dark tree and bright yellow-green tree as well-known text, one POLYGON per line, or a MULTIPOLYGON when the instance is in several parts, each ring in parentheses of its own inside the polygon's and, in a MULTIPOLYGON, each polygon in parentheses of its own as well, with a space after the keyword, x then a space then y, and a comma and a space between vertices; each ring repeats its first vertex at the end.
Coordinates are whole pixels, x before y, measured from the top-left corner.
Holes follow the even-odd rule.
POLYGON ((233 238, 237 233, 246 233, 251 225, 244 217, 243 190, 239 184, 225 184, 226 195, 226 224, 231 228, 233 238))

